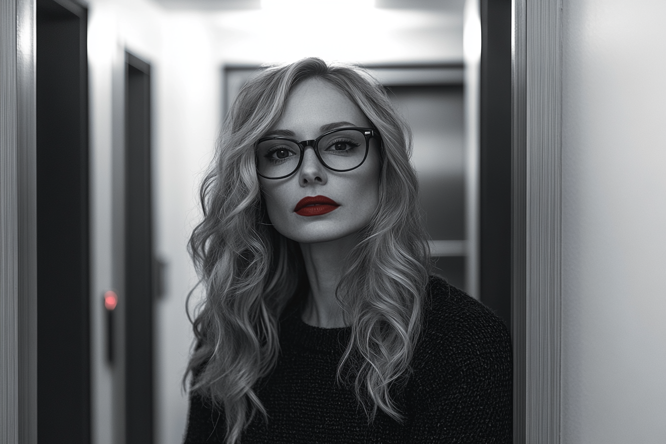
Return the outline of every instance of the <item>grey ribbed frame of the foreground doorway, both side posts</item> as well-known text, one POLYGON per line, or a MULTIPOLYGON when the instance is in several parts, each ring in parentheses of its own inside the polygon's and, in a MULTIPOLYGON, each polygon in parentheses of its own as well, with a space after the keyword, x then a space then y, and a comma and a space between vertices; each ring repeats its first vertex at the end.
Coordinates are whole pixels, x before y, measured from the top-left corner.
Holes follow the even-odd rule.
MULTIPOLYGON (((35 1, 0 14, 0 439, 37 440, 35 1), (9 339, 8 339, 9 338, 9 339), (6 427, 5 427, 6 425, 6 427)), ((559 443, 561 0, 511 0, 514 442, 559 443), (527 44, 529 42, 529 45, 527 44)))

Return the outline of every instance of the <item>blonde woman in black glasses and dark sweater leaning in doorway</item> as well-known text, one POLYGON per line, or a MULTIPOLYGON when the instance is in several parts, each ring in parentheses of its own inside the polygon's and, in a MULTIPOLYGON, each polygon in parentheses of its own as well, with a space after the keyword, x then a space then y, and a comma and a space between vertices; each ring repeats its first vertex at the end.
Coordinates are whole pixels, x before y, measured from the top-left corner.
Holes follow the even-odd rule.
POLYGON ((186 443, 511 441, 509 336, 429 276, 410 149, 353 67, 242 88, 190 238, 206 298, 186 443))

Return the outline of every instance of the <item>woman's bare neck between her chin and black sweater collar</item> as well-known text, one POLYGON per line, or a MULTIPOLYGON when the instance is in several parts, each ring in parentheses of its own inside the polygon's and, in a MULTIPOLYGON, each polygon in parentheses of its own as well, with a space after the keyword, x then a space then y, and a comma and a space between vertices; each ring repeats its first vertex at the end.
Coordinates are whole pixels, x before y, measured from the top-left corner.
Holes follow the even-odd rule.
POLYGON ((322 328, 346 326, 335 289, 342 276, 342 263, 357 242, 356 234, 352 234, 331 242, 300 244, 310 282, 302 314, 306 324, 322 328))

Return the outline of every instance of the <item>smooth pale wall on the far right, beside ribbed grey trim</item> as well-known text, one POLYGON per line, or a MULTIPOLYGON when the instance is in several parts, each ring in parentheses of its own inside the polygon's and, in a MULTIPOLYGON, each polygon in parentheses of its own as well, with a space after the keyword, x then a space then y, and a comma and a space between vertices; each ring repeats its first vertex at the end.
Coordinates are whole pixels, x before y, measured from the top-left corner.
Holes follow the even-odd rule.
POLYGON ((563 1, 563 443, 666 441, 663 17, 563 1))

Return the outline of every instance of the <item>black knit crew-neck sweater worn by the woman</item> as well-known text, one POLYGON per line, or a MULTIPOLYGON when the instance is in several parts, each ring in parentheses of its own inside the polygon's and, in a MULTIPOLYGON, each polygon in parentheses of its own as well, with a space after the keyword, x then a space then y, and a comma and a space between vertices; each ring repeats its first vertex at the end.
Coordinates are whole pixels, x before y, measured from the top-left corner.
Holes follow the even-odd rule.
MULTIPOLYGON (((394 399, 406 419, 381 410, 372 423, 336 369, 350 328, 308 326, 298 314, 280 324, 280 357, 256 391, 269 419, 256 415, 250 443, 510 443, 511 342, 488 308, 440 278, 430 279, 412 374, 394 399)), ((185 443, 224 442, 224 413, 190 396, 185 443)))

